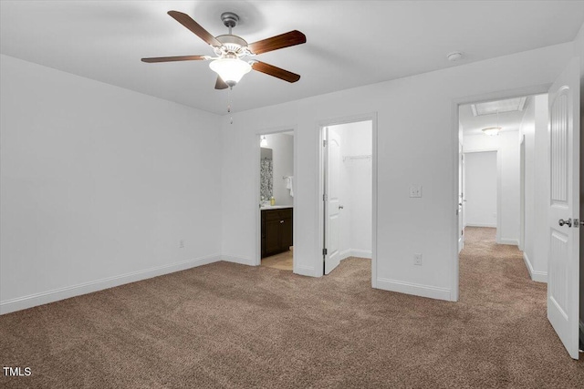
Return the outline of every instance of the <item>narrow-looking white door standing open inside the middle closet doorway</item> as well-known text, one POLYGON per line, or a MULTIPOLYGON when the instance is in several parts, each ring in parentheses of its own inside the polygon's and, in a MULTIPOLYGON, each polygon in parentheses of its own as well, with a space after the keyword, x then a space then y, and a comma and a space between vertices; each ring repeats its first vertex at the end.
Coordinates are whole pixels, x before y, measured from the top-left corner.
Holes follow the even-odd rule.
POLYGON ((333 271, 340 262, 339 199, 340 187, 340 142, 334 130, 325 128, 325 274, 333 271))

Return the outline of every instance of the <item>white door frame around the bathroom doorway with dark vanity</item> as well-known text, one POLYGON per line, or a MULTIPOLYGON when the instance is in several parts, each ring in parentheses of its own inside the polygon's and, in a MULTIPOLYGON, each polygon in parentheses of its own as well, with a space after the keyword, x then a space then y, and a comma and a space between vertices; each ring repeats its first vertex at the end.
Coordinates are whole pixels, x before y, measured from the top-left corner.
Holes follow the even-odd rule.
MULTIPOLYGON (((298 137, 297 137, 297 126, 281 126, 281 127, 276 127, 276 128, 265 128, 259 131, 255 132, 255 200, 257 201, 257 212, 255 213, 255 261, 254 261, 254 265, 255 266, 259 266, 262 264, 262 211, 260 210, 261 207, 261 203, 260 203, 260 199, 261 199, 261 193, 260 193, 260 164, 261 164, 261 156, 262 156, 262 150, 259 146, 259 142, 261 140, 261 136, 262 135, 276 135, 276 134, 282 134, 284 132, 290 132, 292 131, 294 133, 293 137, 294 137, 294 142, 293 142, 293 177, 294 177, 294 181, 293 181, 293 185, 296 188, 296 183, 297 183, 297 171, 298 171, 298 167, 297 167, 297 160, 298 160, 298 137)), ((295 190, 296 191, 296 190, 295 190)), ((294 219, 294 210, 296 210, 296 206, 297 206, 297 197, 294 196, 292 198, 292 218, 294 219)), ((296 227, 297 223, 293 222, 292 223, 292 246, 294 247, 296 245, 296 239, 297 239, 297 232, 296 232, 296 227)), ((292 272, 296 273, 297 272, 297 261, 295 260, 295 253, 294 251, 292 251, 292 272)))

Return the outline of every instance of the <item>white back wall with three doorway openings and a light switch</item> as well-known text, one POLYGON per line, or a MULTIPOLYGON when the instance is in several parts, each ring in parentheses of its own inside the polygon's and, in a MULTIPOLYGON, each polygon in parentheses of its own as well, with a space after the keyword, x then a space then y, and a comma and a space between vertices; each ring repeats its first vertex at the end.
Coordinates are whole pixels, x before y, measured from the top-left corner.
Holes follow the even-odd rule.
MULTIPOLYGON (((548 46, 235 113, 233 125, 224 118, 223 253, 239 257, 244 263, 257 257, 255 229, 250 228, 254 226, 257 207, 255 185, 245 184, 243 180, 255 174, 257 128, 296 126, 295 271, 322 275, 318 128, 333 119, 375 112, 378 258, 373 284, 396 292, 456 299, 457 291, 452 290, 457 251, 455 104, 516 88, 543 86, 537 89, 544 89, 573 53, 572 43, 548 46), (422 185, 422 199, 409 198, 412 183, 422 185), (414 252, 422 253, 422 266, 413 265, 414 252)), ((518 161, 513 174, 518 182, 518 161)), ((506 233, 509 235, 505 237, 516 239, 518 222, 506 233)))

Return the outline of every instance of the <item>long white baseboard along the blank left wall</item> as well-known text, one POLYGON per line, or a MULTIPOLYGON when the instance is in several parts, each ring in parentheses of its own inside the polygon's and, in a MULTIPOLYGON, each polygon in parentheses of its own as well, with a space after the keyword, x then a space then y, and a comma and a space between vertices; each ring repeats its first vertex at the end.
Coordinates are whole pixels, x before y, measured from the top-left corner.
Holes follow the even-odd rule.
POLYGON ((175 262, 169 265, 157 266, 142 271, 132 271, 126 274, 120 274, 91 282, 79 283, 77 285, 54 289, 52 291, 29 294, 24 297, 17 297, 16 299, 0 302, 0 314, 25 310, 27 308, 36 307, 37 305, 47 304, 49 302, 57 302, 59 300, 79 296, 81 294, 98 292, 104 289, 120 286, 125 283, 146 280, 148 278, 157 277, 159 275, 169 274, 175 271, 183 271, 216 261, 221 261, 221 256, 218 254, 195 258, 193 260, 175 262))

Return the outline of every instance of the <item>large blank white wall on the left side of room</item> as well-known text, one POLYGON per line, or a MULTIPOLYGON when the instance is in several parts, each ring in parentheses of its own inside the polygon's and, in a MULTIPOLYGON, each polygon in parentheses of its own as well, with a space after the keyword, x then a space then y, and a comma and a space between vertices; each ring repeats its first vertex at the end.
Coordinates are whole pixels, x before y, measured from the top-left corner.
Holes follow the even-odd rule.
POLYGON ((219 259, 218 116, 0 68, 1 312, 219 259))

